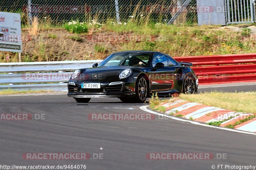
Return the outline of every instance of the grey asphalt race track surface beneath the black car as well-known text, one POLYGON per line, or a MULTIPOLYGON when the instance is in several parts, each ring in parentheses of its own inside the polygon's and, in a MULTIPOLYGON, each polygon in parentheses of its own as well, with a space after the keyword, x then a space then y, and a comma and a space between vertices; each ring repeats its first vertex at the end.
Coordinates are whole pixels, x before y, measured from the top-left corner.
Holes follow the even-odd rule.
MULTIPOLYGON (((204 87, 200 90, 204 91, 204 87)), ((255 91, 255 85, 216 90, 255 91), (243 88, 243 90, 241 90, 243 88)), ((256 165, 256 136, 176 120, 99 121, 90 113, 147 113, 117 98, 78 104, 66 94, 1 96, 0 113, 45 114, 44 120, 1 120, 1 165, 86 165, 86 169, 212 169, 256 165), (102 150, 100 150, 102 148, 102 150), (103 159, 26 160, 23 153, 103 153, 103 159), (147 153, 224 153, 227 159, 148 160, 147 153)))

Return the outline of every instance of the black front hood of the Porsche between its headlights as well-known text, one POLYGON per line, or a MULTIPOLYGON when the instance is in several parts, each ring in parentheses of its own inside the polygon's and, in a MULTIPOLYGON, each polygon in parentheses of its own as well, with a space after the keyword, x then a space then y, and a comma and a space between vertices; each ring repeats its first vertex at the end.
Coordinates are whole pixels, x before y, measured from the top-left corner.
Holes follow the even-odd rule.
POLYGON ((129 68, 130 67, 109 66, 81 69, 78 81, 108 82, 111 78, 118 77, 123 70, 129 68))

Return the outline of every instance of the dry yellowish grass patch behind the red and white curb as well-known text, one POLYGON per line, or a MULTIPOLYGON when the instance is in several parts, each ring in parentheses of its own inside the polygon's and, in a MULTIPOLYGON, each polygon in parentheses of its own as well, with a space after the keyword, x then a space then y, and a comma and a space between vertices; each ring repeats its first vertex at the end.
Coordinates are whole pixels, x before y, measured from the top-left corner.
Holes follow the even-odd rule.
POLYGON ((236 112, 256 114, 256 92, 205 92, 193 95, 181 94, 179 98, 236 112))

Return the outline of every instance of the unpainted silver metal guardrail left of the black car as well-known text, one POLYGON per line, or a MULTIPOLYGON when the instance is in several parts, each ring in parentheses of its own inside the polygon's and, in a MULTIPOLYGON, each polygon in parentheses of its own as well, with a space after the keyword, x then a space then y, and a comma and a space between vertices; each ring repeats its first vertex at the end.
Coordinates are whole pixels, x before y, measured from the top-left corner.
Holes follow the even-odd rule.
POLYGON ((102 60, 0 63, 0 90, 67 91, 73 71, 90 68, 102 60), (4 73, 4 74, 3 74, 4 73))

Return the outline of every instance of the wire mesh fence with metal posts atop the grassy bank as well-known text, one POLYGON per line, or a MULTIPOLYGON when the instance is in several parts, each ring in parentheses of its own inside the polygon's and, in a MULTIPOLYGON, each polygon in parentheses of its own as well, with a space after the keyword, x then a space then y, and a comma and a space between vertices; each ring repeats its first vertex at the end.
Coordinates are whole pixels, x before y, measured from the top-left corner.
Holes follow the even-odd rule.
POLYGON ((152 20, 169 24, 197 22, 196 0, 4 0, 0 11, 19 12, 23 23, 37 17, 71 20, 152 20))

